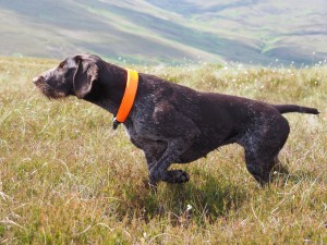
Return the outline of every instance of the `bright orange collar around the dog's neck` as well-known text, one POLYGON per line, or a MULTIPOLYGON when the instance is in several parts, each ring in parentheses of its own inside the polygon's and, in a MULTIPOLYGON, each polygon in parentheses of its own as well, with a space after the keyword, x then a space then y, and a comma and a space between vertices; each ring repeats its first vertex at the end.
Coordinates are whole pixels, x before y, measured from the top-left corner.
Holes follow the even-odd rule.
POLYGON ((120 123, 123 123, 129 117, 130 111, 134 105, 134 100, 137 91, 138 73, 133 70, 129 70, 129 69, 126 70, 128 70, 126 87, 120 107, 118 109, 118 113, 113 119, 113 128, 117 128, 117 126, 120 123))

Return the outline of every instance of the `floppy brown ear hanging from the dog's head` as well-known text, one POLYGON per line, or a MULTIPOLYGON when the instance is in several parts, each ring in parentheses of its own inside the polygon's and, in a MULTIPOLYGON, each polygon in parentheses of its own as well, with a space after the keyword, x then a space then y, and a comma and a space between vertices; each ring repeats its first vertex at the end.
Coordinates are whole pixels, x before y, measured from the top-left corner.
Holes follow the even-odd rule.
POLYGON ((73 86, 78 99, 83 99, 92 89, 94 82, 98 78, 98 66, 95 61, 76 57, 77 69, 74 74, 73 86))

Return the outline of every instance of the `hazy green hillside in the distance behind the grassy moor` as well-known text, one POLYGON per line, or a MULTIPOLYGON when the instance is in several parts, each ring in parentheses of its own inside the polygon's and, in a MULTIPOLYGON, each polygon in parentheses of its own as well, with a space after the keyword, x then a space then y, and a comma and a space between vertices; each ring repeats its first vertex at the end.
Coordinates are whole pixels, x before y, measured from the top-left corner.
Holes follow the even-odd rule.
POLYGON ((87 51, 130 63, 264 65, 327 59, 326 0, 0 0, 0 56, 87 51))

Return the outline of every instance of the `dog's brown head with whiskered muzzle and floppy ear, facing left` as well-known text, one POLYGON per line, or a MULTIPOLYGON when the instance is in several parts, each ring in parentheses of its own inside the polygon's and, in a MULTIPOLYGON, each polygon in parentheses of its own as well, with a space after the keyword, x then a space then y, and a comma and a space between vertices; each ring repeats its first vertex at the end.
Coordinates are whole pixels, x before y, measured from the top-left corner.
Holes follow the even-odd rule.
POLYGON ((50 99, 75 95, 83 99, 98 79, 100 58, 93 54, 78 54, 66 58, 58 66, 33 78, 33 83, 50 99))

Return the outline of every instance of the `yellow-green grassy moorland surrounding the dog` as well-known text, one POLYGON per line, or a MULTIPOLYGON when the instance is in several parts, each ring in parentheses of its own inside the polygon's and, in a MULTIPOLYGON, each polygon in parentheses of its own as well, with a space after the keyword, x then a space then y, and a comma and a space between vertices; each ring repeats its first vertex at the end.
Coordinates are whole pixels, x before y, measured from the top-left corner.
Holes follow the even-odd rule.
MULTIPOLYGON (((290 175, 261 188, 230 145, 184 185, 146 186, 143 154, 106 111, 49 101, 31 79, 52 60, 0 58, 0 244, 327 244, 327 66, 136 68, 201 90, 316 107, 287 114, 290 175)), ((173 166, 177 168, 177 166, 173 166)))

